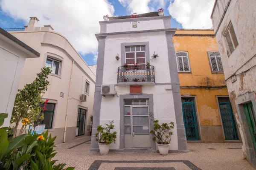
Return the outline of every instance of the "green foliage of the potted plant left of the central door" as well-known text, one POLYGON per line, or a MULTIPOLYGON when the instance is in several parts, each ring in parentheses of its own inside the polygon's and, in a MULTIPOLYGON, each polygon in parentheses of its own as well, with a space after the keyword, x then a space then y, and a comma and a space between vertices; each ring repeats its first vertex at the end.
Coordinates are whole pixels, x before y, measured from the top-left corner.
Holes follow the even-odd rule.
POLYGON ((116 143, 117 132, 113 132, 113 133, 110 132, 112 129, 114 129, 113 123, 114 123, 114 120, 109 122, 109 125, 105 123, 106 127, 102 127, 102 125, 97 127, 97 131, 99 133, 95 134, 96 141, 102 144, 116 143))

